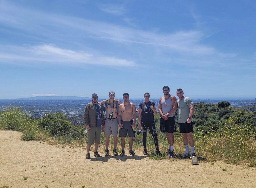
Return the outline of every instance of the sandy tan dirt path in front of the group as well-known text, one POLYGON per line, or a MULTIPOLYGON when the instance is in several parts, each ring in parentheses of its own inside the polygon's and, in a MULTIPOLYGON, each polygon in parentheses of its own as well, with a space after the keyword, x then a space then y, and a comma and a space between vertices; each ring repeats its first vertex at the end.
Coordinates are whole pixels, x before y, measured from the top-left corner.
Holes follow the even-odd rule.
POLYGON ((134 159, 86 160, 85 148, 24 142, 21 135, 0 131, 0 187, 256 187, 256 168, 222 162, 194 166, 189 159, 156 161, 141 151, 135 152, 134 159))

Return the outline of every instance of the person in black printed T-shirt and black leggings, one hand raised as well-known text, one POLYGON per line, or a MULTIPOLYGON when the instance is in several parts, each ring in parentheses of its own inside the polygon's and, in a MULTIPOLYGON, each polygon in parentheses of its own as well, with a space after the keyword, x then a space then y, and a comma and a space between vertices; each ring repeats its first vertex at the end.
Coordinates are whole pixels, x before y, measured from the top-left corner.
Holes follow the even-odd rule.
POLYGON ((154 121, 154 114, 156 114, 156 107, 155 103, 152 101, 149 101, 149 93, 144 94, 144 102, 140 103, 139 107, 139 130, 142 129, 143 133, 143 154, 147 154, 147 147, 146 147, 146 141, 147 141, 147 129, 149 128, 152 137, 154 139, 154 144, 156 147, 156 154, 159 156, 162 156, 161 152, 158 148, 158 139, 156 134, 156 127, 155 127, 155 121, 154 121))

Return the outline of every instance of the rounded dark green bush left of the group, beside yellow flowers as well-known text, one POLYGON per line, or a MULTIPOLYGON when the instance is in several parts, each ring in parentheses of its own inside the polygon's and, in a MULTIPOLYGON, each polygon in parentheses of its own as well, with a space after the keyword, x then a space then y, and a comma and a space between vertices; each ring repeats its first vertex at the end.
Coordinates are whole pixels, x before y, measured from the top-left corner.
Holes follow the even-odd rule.
POLYGON ((52 136, 68 135, 72 128, 71 122, 61 112, 46 114, 38 120, 38 125, 40 128, 46 129, 52 136))

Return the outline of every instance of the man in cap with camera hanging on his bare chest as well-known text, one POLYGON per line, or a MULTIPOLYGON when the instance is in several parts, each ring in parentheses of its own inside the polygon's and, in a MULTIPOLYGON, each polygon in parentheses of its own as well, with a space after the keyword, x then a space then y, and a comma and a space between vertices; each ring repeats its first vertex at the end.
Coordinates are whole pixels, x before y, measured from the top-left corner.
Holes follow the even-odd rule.
POLYGON ((99 102, 100 104, 105 104, 106 107, 106 118, 104 119, 104 134, 105 134, 105 157, 109 156, 109 138, 110 135, 113 135, 113 154, 114 156, 117 156, 118 153, 116 151, 116 145, 117 145, 117 132, 118 132, 118 106, 121 104, 119 100, 115 100, 115 92, 110 91, 109 92, 109 99, 103 100, 99 102))

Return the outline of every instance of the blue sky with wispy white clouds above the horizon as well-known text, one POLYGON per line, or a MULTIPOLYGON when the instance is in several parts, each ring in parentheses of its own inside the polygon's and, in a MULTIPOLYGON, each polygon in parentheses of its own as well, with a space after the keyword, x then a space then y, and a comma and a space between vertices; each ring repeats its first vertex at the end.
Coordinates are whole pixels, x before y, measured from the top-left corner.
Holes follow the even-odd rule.
POLYGON ((0 0, 0 99, 254 99, 255 21, 247 0, 0 0))

